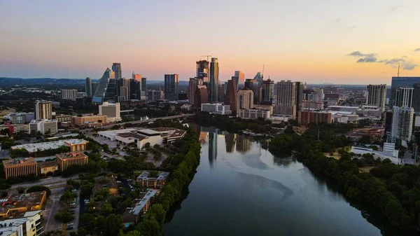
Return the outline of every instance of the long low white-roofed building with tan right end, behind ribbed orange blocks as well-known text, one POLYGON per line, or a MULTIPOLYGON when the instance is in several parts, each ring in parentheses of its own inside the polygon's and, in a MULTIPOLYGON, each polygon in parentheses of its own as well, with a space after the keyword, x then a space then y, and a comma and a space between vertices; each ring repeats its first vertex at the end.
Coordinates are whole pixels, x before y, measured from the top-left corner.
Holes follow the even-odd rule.
POLYGON ((38 144, 20 144, 12 146, 11 149, 25 149, 28 153, 36 153, 37 151, 45 151, 48 149, 57 149, 62 146, 68 146, 70 151, 85 151, 87 141, 85 139, 62 139, 58 141, 47 141, 38 144))

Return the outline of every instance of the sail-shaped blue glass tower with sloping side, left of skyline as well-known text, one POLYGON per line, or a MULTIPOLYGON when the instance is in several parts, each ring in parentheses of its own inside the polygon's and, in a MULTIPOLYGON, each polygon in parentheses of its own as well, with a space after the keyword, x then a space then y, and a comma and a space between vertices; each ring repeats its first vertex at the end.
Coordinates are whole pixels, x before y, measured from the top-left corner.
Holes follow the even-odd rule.
POLYGON ((92 103, 102 104, 109 100, 115 99, 116 96, 116 80, 115 73, 106 68, 102 78, 99 78, 97 89, 94 92, 92 103))

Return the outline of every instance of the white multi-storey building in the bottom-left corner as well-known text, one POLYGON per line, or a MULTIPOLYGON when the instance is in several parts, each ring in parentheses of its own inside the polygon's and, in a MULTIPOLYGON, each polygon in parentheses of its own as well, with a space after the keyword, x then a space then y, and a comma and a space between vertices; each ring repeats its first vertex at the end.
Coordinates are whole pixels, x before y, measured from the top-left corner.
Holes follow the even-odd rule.
POLYGON ((3 236, 38 236, 44 232, 41 224, 43 211, 27 211, 19 218, 7 218, 0 221, 0 235, 3 236))

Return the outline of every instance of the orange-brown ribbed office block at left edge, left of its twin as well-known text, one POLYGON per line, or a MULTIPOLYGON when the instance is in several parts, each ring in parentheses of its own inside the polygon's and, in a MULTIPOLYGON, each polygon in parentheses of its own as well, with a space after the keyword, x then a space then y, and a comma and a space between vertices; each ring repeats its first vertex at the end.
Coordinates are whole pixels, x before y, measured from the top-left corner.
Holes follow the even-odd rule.
POLYGON ((3 160, 3 170, 6 179, 18 176, 38 176, 38 165, 34 158, 3 160))

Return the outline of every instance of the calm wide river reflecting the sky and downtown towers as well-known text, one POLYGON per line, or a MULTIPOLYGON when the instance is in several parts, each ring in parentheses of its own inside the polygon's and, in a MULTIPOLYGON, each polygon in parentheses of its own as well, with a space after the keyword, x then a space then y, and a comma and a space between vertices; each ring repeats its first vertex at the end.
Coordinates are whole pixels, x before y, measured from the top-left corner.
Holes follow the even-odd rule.
POLYGON ((199 139, 200 165, 167 216, 165 236, 415 235, 348 202, 294 155, 274 156, 250 137, 214 128, 202 127, 199 139))

